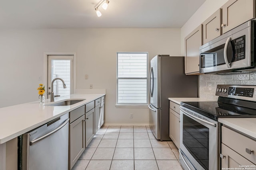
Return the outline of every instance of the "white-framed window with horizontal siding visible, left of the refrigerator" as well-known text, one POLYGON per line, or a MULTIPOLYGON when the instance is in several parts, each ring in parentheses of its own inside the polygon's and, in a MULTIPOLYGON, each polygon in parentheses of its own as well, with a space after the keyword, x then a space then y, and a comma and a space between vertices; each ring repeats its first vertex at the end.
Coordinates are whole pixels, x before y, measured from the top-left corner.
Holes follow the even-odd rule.
POLYGON ((117 53, 117 105, 148 104, 148 53, 117 53))

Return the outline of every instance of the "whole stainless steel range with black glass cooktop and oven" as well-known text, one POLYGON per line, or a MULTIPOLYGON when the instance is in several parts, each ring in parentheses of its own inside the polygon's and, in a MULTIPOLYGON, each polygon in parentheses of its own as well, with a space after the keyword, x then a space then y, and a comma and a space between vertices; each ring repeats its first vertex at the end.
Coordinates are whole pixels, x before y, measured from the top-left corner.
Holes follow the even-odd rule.
POLYGON ((256 86, 218 85, 218 102, 182 102, 180 164, 184 170, 220 169, 219 117, 256 117, 256 86))

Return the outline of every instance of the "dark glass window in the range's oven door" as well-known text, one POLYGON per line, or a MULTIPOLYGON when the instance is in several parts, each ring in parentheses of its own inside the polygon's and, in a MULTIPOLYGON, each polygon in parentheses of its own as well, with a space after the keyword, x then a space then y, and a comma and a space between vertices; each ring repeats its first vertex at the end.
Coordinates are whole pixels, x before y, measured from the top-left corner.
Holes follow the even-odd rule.
POLYGON ((183 144, 194 159, 206 170, 209 169, 209 129, 183 115, 183 144))

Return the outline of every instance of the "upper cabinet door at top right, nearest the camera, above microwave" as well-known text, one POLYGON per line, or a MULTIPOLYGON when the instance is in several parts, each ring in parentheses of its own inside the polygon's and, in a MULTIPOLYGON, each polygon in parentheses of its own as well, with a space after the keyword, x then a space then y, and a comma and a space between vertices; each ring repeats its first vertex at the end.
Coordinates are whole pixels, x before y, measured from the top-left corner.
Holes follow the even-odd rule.
POLYGON ((255 0, 229 0, 222 6, 222 33, 255 18, 255 0))

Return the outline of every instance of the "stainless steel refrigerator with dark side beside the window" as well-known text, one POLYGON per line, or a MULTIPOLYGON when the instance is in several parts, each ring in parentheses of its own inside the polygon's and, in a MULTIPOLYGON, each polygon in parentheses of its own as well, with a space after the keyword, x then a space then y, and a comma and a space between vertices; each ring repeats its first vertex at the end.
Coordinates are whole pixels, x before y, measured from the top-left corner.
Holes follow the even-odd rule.
POLYGON ((168 98, 197 97, 198 76, 185 75, 184 57, 157 55, 150 61, 150 128, 156 139, 170 140, 168 98))

